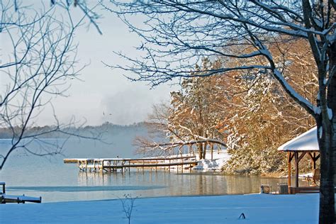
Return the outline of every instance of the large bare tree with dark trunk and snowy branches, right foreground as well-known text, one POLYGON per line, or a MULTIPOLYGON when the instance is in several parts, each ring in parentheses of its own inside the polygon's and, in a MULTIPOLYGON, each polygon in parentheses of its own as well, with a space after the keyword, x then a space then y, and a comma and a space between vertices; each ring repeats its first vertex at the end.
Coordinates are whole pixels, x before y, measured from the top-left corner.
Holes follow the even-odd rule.
POLYGON ((142 58, 119 53, 131 65, 113 66, 137 75, 130 79, 157 85, 174 77, 189 77, 192 65, 202 57, 227 61, 253 58, 256 63, 199 71, 200 76, 247 69, 272 74, 286 93, 315 118, 321 155, 319 221, 334 222, 335 1, 113 1, 113 6, 104 6, 117 13, 143 40, 138 48, 144 51, 142 58), (143 18, 143 23, 136 23, 138 26, 129 19, 136 14, 143 18), (274 62, 267 43, 279 35, 309 43, 318 67, 316 102, 298 94, 295 86, 284 78, 281 66, 274 62), (239 46, 240 53, 232 52, 233 46, 239 46))

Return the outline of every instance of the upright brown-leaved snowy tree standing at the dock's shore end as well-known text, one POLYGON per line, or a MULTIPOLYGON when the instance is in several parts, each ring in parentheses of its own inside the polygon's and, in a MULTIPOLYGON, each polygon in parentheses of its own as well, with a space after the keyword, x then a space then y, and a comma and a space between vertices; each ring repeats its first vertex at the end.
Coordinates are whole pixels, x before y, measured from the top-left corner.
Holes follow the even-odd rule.
MULTIPOLYGON (((196 71, 219 67, 220 63, 211 63, 208 58, 202 65, 196 65, 196 71)), ((198 72, 197 72, 198 73, 198 72)), ((218 77, 193 77, 181 82, 181 91, 171 93, 171 112, 168 123, 174 131, 188 140, 223 140, 222 133, 216 126, 220 123, 223 111, 223 89, 218 84, 218 77)), ((198 157, 206 158, 207 143, 198 143, 198 157)))

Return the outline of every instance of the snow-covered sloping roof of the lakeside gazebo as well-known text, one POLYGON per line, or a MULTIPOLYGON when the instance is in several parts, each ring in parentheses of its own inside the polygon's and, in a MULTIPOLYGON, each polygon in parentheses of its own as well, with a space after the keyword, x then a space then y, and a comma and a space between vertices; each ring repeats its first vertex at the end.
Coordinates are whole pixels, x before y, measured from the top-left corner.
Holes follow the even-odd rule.
POLYGON ((319 151, 317 129, 312 128, 278 148, 279 151, 319 151))

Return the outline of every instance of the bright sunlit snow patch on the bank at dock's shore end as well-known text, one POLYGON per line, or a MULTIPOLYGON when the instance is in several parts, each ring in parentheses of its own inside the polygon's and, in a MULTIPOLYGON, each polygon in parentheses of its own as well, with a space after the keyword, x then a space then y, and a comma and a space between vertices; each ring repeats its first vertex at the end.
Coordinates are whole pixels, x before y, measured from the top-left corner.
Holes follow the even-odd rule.
MULTIPOLYGON (((211 158, 211 151, 206 151, 206 158, 211 158)), ((213 159, 198 160, 198 164, 192 169, 220 171, 220 168, 222 168, 229 159, 230 155, 227 150, 213 150, 213 159)))

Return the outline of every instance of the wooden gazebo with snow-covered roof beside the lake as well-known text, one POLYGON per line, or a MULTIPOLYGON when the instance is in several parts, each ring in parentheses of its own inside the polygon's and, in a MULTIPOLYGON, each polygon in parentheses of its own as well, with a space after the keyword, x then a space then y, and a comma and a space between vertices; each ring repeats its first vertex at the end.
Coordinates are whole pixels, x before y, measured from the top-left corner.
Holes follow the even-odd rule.
POLYGON ((288 185, 289 194, 300 192, 318 191, 318 187, 300 187, 298 186, 298 163, 308 155, 313 162, 313 171, 316 169, 316 161, 320 158, 320 148, 318 147, 317 128, 312 128, 302 135, 293 138, 278 148, 279 151, 288 152, 288 185), (295 185, 291 186, 291 161, 294 159, 295 164, 295 185))

